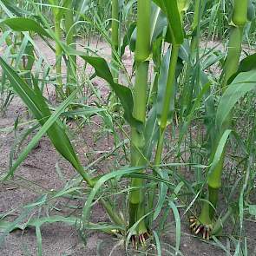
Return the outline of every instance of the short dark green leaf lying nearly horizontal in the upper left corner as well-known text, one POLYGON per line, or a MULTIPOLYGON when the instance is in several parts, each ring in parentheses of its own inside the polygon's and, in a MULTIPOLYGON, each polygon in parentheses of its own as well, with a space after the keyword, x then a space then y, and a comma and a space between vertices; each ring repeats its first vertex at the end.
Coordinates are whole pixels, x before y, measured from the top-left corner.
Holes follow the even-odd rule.
POLYGON ((11 30, 15 30, 18 32, 24 31, 33 31, 36 32, 40 36, 49 36, 49 33, 43 29, 43 27, 37 23, 35 20, 27 17, 12 17, 3 20, 3 24, 10 27, 11 30))

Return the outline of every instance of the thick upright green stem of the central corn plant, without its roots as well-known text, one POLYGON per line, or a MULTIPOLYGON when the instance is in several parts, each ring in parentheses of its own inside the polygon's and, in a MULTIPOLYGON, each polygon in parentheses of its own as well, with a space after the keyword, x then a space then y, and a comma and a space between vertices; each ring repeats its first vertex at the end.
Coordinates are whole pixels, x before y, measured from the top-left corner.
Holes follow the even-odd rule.
MULTIPOLYGON (((148 88, 148 57, 150 55, 150 0, 138 0, 137 16, 137 41, 135 49, 135 88, 134 88, 134 117, 145 124, 147 88, 148 88)), ((141 153, 144 150, 144 134, 137 128, 131 128, 131 165, 133 167, 144 166, 145 159, 141 153)), ((141 173, 144 173, 142 170, 141 173)), ((131 181, 132 187, 139 187, 129 194, 129 226, 141 219, 145 214, 143 179, 134 178, 131 181)), ((141 220, 137 226, 136 233, 146 233, 145 220, 141 220)))

